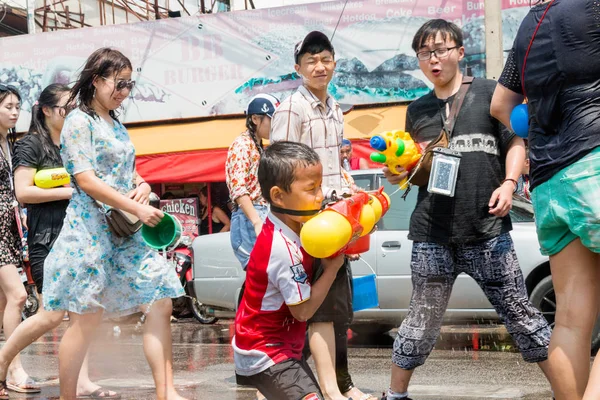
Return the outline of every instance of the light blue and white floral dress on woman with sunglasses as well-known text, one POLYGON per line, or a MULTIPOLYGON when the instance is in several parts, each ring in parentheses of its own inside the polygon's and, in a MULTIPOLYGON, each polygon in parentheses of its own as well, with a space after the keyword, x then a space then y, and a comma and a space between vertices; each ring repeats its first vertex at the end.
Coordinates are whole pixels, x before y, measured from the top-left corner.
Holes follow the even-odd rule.
MULTIPOLYGON (((120 122, 110 126, 81 110, 71 112, 61 134, 61 156, 71 176, 93 170, 122 194, 134 187, 135 150, 120 122)), ((81 190, 73 193, 44 270, 48 310, 127 314, 184 294, 173 265, 147 247, 139 232, 114 236, 94 200, 81 190)))

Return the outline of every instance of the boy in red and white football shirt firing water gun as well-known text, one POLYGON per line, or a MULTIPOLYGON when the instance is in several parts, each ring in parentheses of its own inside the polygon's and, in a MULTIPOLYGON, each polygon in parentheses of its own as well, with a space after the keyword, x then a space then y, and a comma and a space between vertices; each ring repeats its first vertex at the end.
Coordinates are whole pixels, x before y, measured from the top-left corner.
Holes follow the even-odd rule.
POLYGON ((261 157, 258 181, 271 205, 250 255, 232 341, 236 373, 269 400, 322 400, 302 358, 306 320, 319 308, 344 256, 323 260, 311 286, 313 258, 300 243, 302 224, 323 201, 323 167, 310 147, 276 142, 261 157))

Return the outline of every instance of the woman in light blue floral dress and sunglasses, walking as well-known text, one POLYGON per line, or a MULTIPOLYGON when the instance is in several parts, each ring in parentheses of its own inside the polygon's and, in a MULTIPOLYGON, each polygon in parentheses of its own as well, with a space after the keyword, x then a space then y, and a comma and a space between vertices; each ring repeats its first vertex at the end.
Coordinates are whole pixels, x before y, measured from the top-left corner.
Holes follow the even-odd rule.
POLYGON ((59 349, 61 398, 75 399, 77 376, 104 313, 146 313, 144 351, 158 399, 179 400, 173 386, 171 298, 184 294, 175 269, 139 233, 111 233, 95 200, 155 226, 163 213, 148 205, 150 186, 135 172, 135 151, 115 111, 129 96, 129 59, 96 50, 72 90, 78 100, 61 134, 61 156, 76 191, 44 265, 44 307, 69 311, 59 349))

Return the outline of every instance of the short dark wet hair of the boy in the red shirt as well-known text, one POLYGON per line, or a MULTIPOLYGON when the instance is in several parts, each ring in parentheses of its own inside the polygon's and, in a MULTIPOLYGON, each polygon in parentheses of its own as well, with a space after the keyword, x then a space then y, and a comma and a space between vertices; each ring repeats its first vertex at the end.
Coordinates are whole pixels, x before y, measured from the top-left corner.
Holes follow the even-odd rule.
POLYGON ((297 142, 275 142, 264 151, 258 165, 258 183, 262 195, 271 203, 271 188, 291 190, 298 167, 319 164, 319 155, 305 144, 297 142))

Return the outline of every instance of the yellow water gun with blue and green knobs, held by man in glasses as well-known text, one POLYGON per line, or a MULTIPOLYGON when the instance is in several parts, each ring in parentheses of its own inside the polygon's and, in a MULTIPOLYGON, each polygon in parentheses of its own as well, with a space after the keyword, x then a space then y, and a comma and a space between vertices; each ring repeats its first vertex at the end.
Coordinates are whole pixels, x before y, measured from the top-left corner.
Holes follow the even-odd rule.
MULTIPOLYGON (((373 135, 369 144, 377 150, 371 153, 371 161, 387 165, 393 174, 399 174, 396 167, 410 172, 421 158, 421 149, 408 132, 387 131, 373 135)), ((400 187, 403 187, 406 181, 407 179, 404 179, 400 182, 400 187)))

